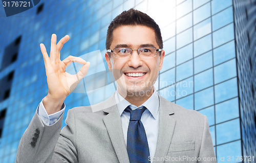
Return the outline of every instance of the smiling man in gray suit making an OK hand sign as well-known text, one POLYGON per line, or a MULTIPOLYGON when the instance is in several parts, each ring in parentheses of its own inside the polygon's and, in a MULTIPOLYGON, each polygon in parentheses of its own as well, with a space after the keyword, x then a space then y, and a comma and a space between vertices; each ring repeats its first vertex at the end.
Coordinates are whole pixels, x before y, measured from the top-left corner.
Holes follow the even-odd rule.
POLYGON ((65 36, 50 57, 44 44, 48 95, 25 131, 16 162, 216 162, 205 115, 165 100, 154 89, 165 52, 160 29, 148 15, 131 9, 110 24, 105 59, 117 91, 93 107, 68 112, 61 131, 63 101, 87 74, 90 63, 69 56, 60 61, 65 36), (76 75, 65 72, 83 64, 76 75))

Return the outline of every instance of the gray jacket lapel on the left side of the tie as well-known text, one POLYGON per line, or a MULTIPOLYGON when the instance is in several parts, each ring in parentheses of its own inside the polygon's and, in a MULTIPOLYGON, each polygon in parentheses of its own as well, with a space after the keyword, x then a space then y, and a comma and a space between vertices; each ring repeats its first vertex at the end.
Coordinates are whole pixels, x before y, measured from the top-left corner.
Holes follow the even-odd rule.
MULTIPOLYGON (((115 94, 114 94, 115 95, 115 94)), ((106 113, 105 117, 103 118, 103 122, 108 130, 110 135, 110 139, 112 145, 115 149, 116 155, 120 163, 129 163, 129 156, 127 154, 123 130, 122 130, 122 122, 120 118, 120 114, 118 112, 118 108, 115 104, 115 96, 106 101, 108 102, 108 108, 104 109, 103 112, 106 113)))

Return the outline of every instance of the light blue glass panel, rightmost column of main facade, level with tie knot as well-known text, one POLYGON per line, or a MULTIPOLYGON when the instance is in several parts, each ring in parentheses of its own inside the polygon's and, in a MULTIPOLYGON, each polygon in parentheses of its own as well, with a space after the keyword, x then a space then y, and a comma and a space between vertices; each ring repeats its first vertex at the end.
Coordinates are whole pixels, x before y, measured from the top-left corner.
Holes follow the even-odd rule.
POLYGON ((238 98, 234 98, 215 106, 216 123, 239 117, 238 98))

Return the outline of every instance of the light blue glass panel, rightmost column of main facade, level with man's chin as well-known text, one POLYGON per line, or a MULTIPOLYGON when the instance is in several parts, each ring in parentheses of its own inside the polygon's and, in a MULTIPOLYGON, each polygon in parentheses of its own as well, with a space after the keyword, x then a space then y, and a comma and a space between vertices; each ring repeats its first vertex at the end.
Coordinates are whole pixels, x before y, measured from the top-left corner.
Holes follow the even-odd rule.
POLYGON ((215 102, 219 103, 238 96, 237 78, 215 85, 215 102))

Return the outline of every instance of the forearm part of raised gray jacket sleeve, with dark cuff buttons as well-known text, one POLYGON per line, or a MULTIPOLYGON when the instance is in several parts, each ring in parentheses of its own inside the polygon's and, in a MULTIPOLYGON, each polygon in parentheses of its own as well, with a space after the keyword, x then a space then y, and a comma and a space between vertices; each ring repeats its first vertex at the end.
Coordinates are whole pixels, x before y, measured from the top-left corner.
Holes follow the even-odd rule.
POLYGON ((63 113, 58 121, 50 126, 45 125, 37 110, 28 128, 20 139, 15 162, 49 162, 58 141, 63 113))

